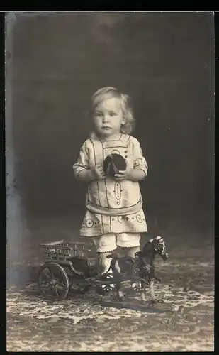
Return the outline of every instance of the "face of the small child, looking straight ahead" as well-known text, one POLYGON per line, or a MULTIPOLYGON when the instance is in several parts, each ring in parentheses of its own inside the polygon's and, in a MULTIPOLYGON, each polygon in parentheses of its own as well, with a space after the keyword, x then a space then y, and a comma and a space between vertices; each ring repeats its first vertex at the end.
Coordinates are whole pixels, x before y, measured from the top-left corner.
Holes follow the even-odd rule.
POLYGON ((115 97, 103 100, 94 109, 96 133, 103 138, 120 133, 121 124, 124 123, 120 100, 115 97))

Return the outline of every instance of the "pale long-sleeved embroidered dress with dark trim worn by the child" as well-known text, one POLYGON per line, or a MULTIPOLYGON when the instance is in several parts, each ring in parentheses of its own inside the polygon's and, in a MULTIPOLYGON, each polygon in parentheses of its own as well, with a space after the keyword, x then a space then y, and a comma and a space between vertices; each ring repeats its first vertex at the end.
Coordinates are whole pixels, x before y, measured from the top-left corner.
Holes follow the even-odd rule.
MULTIPOLYGON (((82 170, 94 168, 97 164, 103 165, 104 159, 111 153, 122 155, 133 168, 140 168, 147 175, 147 162, 140 143, 123 133, 115 141, 101 141, 92 134, 82 145, 77 163, 73 165, 74 175, 77 177, 82 170)), ((89 182, 86 209, 81 236, 147 231, 138 182, 116 181, 108 177, 89 182)))

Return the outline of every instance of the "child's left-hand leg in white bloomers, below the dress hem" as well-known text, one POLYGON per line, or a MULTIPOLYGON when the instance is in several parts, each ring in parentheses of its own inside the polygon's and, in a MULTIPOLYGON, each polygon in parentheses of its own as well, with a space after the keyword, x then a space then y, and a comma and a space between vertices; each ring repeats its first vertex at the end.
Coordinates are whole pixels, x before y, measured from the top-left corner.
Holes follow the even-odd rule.
POLYGON ((108 256, 111 255, 111 252, 117 248, 116 235, 113 233, 103 234, 103 236, 96 236, 93 240, 99 256, 99 271, 100 273, 107 273, 111 266, 112 260, 112 258, 108 258, 108 256))

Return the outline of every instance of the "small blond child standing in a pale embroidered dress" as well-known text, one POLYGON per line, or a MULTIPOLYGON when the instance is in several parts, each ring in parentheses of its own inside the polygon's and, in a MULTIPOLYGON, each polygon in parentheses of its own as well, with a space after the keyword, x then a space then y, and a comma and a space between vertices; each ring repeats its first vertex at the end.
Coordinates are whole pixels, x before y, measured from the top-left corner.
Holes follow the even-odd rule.
POLYGON ((88 182, 86 214, 80 236, 93 238, 99 267, 106 273, 119 246, 129 256, 140 251, 140 233, 147 231, 139 180, 147 176, 147 163, 140 143, 130 136, 135 122, 128 95, 103 87, 92 97, 94 131, 73 165, 78 180, 88 182), (127 168, 109 178, 103 171, 107 155, 118 153, 127 168))

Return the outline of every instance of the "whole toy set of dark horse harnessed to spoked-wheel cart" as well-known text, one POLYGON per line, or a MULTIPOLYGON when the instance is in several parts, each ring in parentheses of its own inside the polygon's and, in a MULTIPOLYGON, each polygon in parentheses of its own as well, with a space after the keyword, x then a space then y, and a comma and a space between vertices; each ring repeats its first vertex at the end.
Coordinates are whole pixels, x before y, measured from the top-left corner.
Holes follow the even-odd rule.
POLYGON ((43 296, 49 300, 64 300, 68 293, 84 294, 93 286, 97 293, 104 295, 111 290, 116 291, 119 299, 123 298, 121 284, 126 281, 139 283, 142 300, 145 299, 146 285, 150 286, 152 300, 155 300, 154 258, 156 254, 164 260, 168 258, 164 240, 157 236, 145 244, 142 251, 137 252, 135 258, 117 258, 111 261, 112 273, 101 275, 96 263, 91 263, 84 254, 84 243, 64 243, 64 240, 40 244, 45 249, 47 258, 40 267, 38 275, 38 288, 43 296), (81 246, 81 255, 77 247, 81 246))

